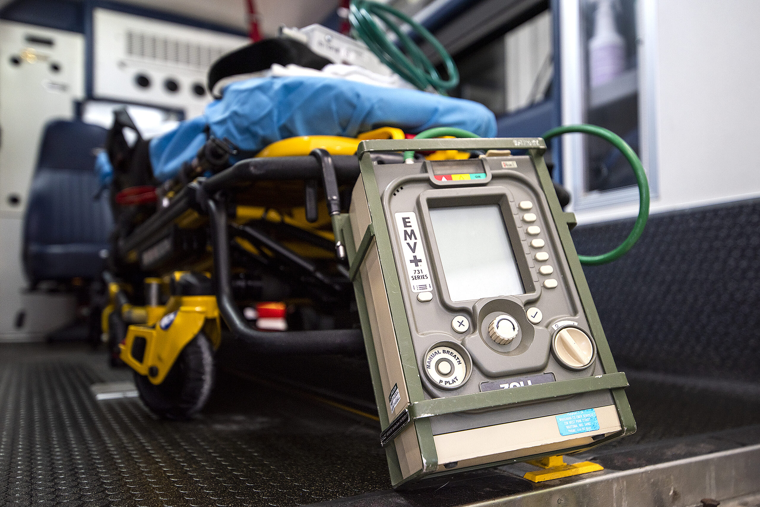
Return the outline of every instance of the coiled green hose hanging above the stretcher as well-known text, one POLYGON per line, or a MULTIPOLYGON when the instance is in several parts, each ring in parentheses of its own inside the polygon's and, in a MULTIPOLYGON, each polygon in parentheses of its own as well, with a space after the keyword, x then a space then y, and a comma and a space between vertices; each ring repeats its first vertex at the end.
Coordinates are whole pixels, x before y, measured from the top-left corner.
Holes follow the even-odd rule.
POLYGON ((447 90, 459 84, 459 71, 454 60, 451 59, 451 55, 432 36, 432 33, 407 14, 378 2, 352 0, 348 19, 356 35, 366 43, 367 47, 377 55, 381 62, 420 90, 428 90, 432 87, 445 95, 447 90), (420 46, 417 46, 407 33, 401 31, 397 24, 391 21, 389 14, 404 21, 435 48, 435 51, 441 55, 448 79, 441 78, 438 71, 435 70, 435 65, 432 65, 420 46), (378 17, 388 29, 396 34, 404 52, 407 53, 406 55, 388 39, 388 35, 375 21, 375 17, 378 17))

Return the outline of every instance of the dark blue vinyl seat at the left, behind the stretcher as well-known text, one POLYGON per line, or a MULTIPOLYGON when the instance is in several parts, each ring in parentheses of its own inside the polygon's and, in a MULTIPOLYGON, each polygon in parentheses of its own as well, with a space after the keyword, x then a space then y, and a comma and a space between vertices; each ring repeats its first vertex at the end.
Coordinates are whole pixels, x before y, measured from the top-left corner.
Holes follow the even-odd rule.
POLYGON ((40 144, 24 217, 24 268, 43 280, 93 279, 103 270, 113 217, 93 172, 106 129, 78 121, 49 123, 40 144))

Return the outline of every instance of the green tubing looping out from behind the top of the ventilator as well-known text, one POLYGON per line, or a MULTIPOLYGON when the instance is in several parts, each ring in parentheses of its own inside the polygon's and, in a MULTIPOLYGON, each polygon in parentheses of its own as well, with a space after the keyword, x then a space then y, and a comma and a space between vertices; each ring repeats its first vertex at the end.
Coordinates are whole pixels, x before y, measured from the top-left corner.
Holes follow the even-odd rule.
MULTIPOLYGON (((638 184, 638 216, 633 224, 633 229, 629 233, 625 241, 610 252, 606 252, 600 255, 578 255, 581 264, 585 265, 600 265, 612 262, 622 255, 625 255, 641 237, 641 233, 644 232, 644 227, 647 225, 649 219, 649 182, 647 181, 647 173, 644 172, 644 166, 641 165, 641 160, 638 160, 636 152, 628 143, 622 140, 619 135, 611 132, 603 127, 597 127, 596 125, 562 125, 561 127, 552 128, 549 132, 546 132, 543 137, 546 140, 554 138, 562 134, 570 134, 571 132, 580 132, 581 134, 596 135, 610 144, 613 144, 629 161, 633 168, 633 173, 636 176, 636 183, 638 184)), ((475 135, 472 132, 467 132, 461 128, 453 127, 436 127, 429 128, 426 131, 420 132, 414 138, 415 139, 430 139, 440 138, 445 135, 453 135, 457 138, 478 138, 479 135, 475 135)), ((404 159, 408 162, 414 159, 413 151, 404 151, 404 159)))

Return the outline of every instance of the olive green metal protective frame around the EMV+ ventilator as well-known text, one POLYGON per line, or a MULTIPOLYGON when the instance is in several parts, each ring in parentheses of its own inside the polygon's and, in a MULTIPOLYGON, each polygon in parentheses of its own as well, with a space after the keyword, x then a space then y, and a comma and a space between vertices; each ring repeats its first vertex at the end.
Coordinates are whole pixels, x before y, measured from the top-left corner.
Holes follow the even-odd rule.
MULTIPOLYGON (((546 169, 546 164, 543 160, 543 154, 545 151, 546 144, 542 138, 389 139, 362 141, 359 143, 357 156, 359 157, 359 166, 362 172, 367 201, 369 202, 369 212, 372 217, 372 223, 367 227, 363 236, 363 241, 358 246, 353 240, 353 233, 351 232, 350 218, 348 214, 340 214, 339 216, 334 217, 334 229, 337 234, 336 239, 340 239, 344 242, 344 245, 346 245, 350 265, 350 277, 353 280, 353 287, 356 292, 356 303, 359 308, 359 318, 364 334, 364 342, 366 344, 369 368, 372 375, 372 385, 375 390, 375 399, 378 404, 380 423, 382 429, 385 430, 394 421, 388 420, 388 413, 385 408, 385 396, 382 391, 377 354, 372 339, 372 330, 369 325, 369 313, 367 312, 362 280, 361 277, 356 276, 359 265, 361 265, 373 237, 375 238, 379 253, 382 274, 385 279, 385 290, 388 294, 391 318, 396 332, 398 350, 401 354, 401 363, 404 368, 404 378, 410 399, 410 404, 396 419, 398 420, 400 417, 406 417, 408 415, 409 420, 414 421, 417 441, 420 445, 423 461, 422 470, 410 477, 402 477, 394 444, 392 441, 389 442, 385 449, 388 456, 388 467, 391 472, 391 483, 393 483, 394 487, 431 475, 439 476, 444 474, 454 474, 475 468, 510 464, 515 461, 527 461, 528 459, 542 458, 544 456, 556 454, 556 452, 554 452, 530 455, 522 458, 512 458, 505 461, 497 461, 473 467, 458 468, 454 471, 442 471, 436 473, 435 471, 438 468, 439 462, 438 455, 435 452, 435 444, 433 442, 429 417, 440 414, 452 414, 464 410, 508 407, 511 404, 518 404, 525 401, 550 400, 552 398, 575 395, 588 391, 602 391, 609 389, 615 401, 622 429, 613 435, 594 442, 594 445, 568 448, 565 453, 580 452, 587 448, 600 445, 604 442, 610 442, 610 440, 635 432, 636 423, 624 391, 625 387, 628 386, 628 381, 625 379, 625 373, 618 372, 616 369, 612 353, 610 352, 610 346, 607 344, 599 320, 599 315, 597 314, 597 309, 594 306, 594 300, 591 297, 591 290, 588 288, 583 268, 581 268, 581 263, 578 261, 578 253, 575 251, 575 245, 573 244, 572 236, 570 236, 570 230, 572 227, 575 227, 576 224, 575 215, 572 213, 565 213, 559 205, 559 200, 557 199, 552 179, 549 176, 549 171, 546 169), (536 167, 541 187, 549 203, 549 210, 556 223, 559 238, 562 241, 562 248, 565 251, 565 256, 567 257, 568 265, 572 272, 575 287, 578 290, 578 295, 580 296, 581 304, 591 329, 591 334, 593 334, 594 340, 597 343, 597 353, 605 372, 603 375, 583 379, 549 382, 546 384, 526 386, 519 389, 503 389, 470 395, 451 396, 449 398, 426 399, 423 394, 422 382, 420 381, 420 372, 416 366, 417 362, 411 340, 409 321, 407 318, 407 312, 404 309, 404 301, 401 298, 401 281, 397 273, 393 252, 391 250, 388 223, 385 221, 385 213, 382 209, 381 197, 375 182, 375 167, 372 164, 370 154, 387 151, 435 150, 527 150, 530 159, 533 160, 536 167)), ((405 426, 406 424, 400 427, 405 426)))

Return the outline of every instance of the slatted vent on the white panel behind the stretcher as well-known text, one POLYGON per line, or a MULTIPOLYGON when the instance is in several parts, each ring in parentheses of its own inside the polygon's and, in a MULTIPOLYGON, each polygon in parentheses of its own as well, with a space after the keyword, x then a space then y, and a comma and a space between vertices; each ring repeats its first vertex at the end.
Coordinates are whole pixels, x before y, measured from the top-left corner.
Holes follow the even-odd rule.
POLYGON ((128 28, 125 51, 130 59, 205 71, 230 49, 128 28))

